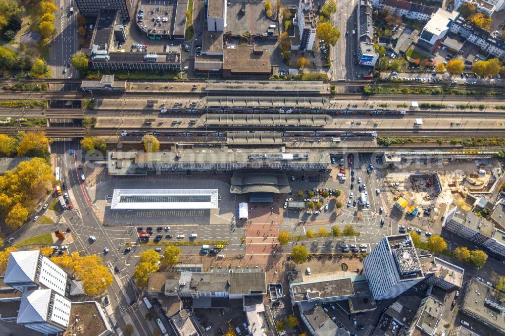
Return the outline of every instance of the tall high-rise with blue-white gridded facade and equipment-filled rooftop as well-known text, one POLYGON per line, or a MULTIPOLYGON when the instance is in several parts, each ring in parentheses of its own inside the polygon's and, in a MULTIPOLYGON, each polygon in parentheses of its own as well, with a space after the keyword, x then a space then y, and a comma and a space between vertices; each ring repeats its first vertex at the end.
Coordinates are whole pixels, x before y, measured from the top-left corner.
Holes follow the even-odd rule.
POLYGON ((363 260, 363 268, 375 300, 394 298, 425 278, 408 234, 384 237, 363 260))

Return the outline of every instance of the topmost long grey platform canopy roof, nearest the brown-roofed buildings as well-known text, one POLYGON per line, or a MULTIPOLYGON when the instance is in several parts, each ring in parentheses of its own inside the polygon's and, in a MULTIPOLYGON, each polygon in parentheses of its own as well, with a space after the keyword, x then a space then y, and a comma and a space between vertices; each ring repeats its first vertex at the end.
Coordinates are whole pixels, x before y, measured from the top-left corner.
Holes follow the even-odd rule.
POLYGON ((206 91, 246 92, 324 92, 323 82, 304 81, 207 81, 206 91))

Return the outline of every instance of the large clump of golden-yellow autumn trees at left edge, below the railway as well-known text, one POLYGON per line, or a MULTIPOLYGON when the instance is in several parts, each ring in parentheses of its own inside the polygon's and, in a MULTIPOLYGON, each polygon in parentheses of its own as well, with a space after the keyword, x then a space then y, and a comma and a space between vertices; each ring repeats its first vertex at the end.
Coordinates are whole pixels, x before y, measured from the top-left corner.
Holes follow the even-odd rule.
POLYGON ((51 192, 54 181, 51 167, 38 157, 0 176, 0 220, 13 230, 19 228, 37 201, 51 192))

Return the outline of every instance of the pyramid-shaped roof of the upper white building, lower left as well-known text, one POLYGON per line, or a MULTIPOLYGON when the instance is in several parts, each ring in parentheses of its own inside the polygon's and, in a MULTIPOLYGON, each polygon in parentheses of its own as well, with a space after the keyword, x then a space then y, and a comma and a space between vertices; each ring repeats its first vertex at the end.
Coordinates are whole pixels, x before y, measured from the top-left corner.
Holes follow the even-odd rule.
POLYGON ((40 251, 17 251, 11 252, 4 283, 32 282, 37 271, 38 256, 40 251))

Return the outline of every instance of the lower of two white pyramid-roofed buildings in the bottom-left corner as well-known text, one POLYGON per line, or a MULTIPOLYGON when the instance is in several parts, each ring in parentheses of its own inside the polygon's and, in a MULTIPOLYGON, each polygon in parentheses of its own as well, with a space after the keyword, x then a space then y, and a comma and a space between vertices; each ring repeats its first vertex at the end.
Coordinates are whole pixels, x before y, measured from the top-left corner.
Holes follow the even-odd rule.
POLYGON ((21 297, 17 323, 44 334, 65 331, 71 304, 52 289, 28 290, 21 297))

